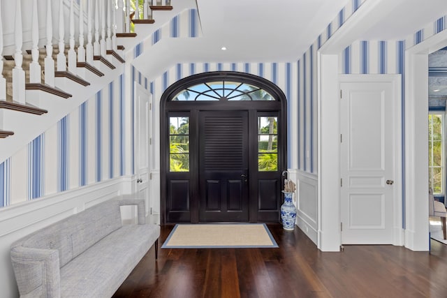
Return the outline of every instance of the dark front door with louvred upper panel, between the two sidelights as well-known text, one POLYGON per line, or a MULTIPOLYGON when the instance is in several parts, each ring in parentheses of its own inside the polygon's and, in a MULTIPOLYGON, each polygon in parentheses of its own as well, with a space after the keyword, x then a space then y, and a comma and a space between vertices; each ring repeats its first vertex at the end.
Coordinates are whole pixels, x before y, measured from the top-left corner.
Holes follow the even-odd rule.
POLYGON ((200 222, 249 221, 247 111, 199 114, 200 222))

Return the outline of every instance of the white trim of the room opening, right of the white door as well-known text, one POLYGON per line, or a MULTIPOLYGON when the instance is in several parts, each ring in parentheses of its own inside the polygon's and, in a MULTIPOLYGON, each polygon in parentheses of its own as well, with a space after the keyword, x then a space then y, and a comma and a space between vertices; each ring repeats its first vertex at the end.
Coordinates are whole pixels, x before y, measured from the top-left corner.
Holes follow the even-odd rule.
POLYGON ((428 54, 447 45, 444 30, 405 52, 405 246, 428 251, 428 54))

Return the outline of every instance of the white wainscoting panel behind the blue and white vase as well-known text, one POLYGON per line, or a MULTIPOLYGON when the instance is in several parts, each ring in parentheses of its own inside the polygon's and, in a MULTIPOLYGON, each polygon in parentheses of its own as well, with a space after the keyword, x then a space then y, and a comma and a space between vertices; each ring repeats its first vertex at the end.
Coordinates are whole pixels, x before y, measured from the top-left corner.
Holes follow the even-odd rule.
POLYGON ((295 193, 295 204, 297 207, 296 225, 317 244, 317 175, 297 170, 288 170, 288 172, 290 173, 290 178, 296 181, 297 185, 295 193))

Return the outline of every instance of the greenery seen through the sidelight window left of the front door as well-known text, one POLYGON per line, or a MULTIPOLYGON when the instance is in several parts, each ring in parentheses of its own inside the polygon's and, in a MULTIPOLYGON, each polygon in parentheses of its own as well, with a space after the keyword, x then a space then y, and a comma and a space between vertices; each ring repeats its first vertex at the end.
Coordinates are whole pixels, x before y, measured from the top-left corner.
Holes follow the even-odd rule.
POLYGON ((169 170, 189 172, 189 117, 169 118, 169 170))

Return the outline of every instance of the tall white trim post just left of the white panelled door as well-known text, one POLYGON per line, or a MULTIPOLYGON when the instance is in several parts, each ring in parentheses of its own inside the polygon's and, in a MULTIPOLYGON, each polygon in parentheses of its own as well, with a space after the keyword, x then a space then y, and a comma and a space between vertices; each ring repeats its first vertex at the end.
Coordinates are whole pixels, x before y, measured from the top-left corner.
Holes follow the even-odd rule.
POLYGON ((338 54, 318 52, 318 195, 317 246, 339 251, 339 85, 338 54))

